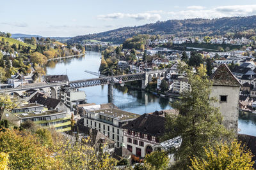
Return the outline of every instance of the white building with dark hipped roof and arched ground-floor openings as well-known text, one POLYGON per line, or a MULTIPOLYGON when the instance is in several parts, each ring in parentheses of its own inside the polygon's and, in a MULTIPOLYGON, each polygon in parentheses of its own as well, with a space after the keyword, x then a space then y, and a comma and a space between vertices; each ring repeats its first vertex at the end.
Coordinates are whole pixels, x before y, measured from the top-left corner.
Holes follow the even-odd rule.
POLYGON ((145 113, 124 125, 124 144, 136 157, 145 157, 159 145, 164 134, 165 118, 145 113))

